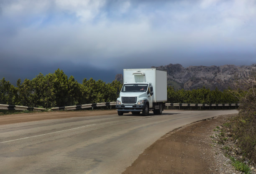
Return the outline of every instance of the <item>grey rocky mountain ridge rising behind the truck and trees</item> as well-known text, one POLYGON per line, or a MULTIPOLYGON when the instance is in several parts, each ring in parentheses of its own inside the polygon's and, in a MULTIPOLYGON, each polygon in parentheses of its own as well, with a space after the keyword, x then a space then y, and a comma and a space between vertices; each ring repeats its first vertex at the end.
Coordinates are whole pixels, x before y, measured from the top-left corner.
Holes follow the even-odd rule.
MULTIPOLYGON (((181 64, 169 64, 160 67, 151 67, 167 72, 167 84, 174 89, 193 90, 197 88, 210 88, 215 90, 228 89, 233 87, 235 79, 245 79, 253 71, 256 71, 256 64, 251 66, 190 66, 182 67, 181 64)), ((116 80, 122 81, 122 74, 116 76, 116 80)))

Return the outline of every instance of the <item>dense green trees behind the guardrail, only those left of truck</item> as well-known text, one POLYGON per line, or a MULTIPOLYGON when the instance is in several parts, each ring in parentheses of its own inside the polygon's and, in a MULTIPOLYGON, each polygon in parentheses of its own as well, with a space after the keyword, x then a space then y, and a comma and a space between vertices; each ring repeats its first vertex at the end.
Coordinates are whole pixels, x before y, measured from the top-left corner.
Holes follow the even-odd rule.
POLYGON ((112 102, 118 97, 118 81, 105 83, 90 78, 78 83, 73 76, 67 77, 60 69, 45 76, 17 81, 17 87, 3 78, 0 81, 0 104, 21 105, 28 107, 61 107, 97 102, 112 102))

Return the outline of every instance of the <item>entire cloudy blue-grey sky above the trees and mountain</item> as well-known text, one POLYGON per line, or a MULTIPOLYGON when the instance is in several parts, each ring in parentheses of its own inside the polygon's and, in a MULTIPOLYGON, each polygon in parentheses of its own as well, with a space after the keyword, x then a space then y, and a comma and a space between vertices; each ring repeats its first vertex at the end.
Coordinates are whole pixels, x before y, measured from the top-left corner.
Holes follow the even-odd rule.
POLYGON ((0 79, 256 63, 256 0, 0 0, 0 79))

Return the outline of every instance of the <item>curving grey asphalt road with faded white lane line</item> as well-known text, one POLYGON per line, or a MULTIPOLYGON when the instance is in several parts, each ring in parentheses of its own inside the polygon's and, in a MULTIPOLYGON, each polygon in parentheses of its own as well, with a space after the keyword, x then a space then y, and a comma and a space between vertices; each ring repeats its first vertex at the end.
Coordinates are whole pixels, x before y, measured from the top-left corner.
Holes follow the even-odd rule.
MULTIPOLYGON (((120 174, 169 131, 236 110, 164 111, 0 125, 0 174, 120 174)), ((51 113, 49 113, 51 114, 51 113)))

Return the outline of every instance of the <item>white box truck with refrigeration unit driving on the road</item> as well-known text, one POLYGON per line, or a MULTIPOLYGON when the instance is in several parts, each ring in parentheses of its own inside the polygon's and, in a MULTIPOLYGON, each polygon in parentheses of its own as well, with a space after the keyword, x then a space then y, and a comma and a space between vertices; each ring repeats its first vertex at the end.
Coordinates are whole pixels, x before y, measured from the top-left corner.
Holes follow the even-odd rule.
MULTIPOLYGON (((119 90, 118 90, 119 92, 119 90)), ((124 69, 123 87, 116 102, 118 115, 161 115, 167 101, 167 73, 156 69, 124 69)))

